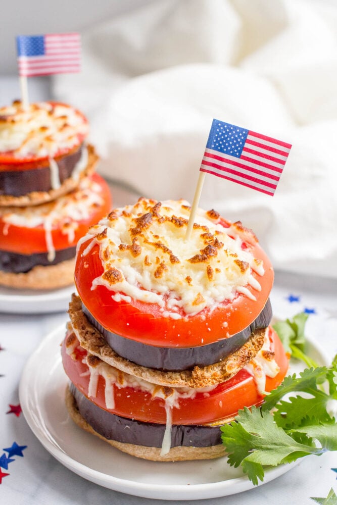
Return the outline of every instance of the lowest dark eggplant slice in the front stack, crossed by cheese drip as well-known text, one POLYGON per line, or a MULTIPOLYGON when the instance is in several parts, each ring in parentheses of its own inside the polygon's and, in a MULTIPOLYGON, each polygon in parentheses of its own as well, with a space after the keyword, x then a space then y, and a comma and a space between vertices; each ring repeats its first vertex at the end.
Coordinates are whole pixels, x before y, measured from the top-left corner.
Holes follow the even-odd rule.
MULTIPOLYGON (((70 383, 69 388, 82 418, 107 440, 145 447, 162 446, 166 428, 164 424, 145 423, 117 416, 95 405, 73 383, 70 383)), ((172 426, 171 447, 210 447, 221 443, 220 426, 172 426)))

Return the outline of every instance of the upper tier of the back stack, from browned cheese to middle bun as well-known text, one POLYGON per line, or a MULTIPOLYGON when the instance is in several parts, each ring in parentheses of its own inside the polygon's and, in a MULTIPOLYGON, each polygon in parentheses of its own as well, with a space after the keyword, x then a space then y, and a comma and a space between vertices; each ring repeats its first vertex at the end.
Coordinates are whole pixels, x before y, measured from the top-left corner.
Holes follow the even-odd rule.
POLYGON ((0 206, 38 205, 76 188, 98 160, 88 132, 85 116, 66 104, 0 108, 0 206))

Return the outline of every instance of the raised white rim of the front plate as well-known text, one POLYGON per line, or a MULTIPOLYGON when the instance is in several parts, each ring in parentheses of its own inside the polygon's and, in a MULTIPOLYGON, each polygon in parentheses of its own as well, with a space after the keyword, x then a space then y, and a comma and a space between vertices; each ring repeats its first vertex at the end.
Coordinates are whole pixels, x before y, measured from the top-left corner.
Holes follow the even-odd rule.
MULTIPOLYGON (((29 359, 27 360, 25 367, 23 369, 20 383, 19 383, 19 399, 25 420, 34 433, 36 438, 42 444, 42 446, 50 452, 50 454, 59 461, 66 468, 74 472, 75 474, 89 480, 95 484, 101 485, 111 490, 123 492, 126 494, 144 497, 144 498, 157 498, 163 500, 187 500, 187 499, 203 499, 203 498, 216 498, 227 496, 231 494, 236 494, 239 492, 247 491, 259 487, 280 475, 286 473, 296 466, 300 460, 295 461, 292 464, 280 465, 275 468, 270 468, 265 470, 264 481, 260 482, 258 486, 252 484, 247 476, 243 475, 241 477, 235 477, 232 479, 227 479, 217 482, 206 482, 206 483, 196 483, 196 484, 156 484, 156 483, 146 483, 146 482, 136 482, 134 480, 123 479, 121 477, 116 477, 111 474, 106 474, 100 472, 99 470, 92 469, 85 464, 77 461, 75 458, 68 455, 68 453, 62 449, 57 442, 52 443, 46 436, 46 432, 41 430, 41 427, 36 424, 33 416, 27 407, 26 401, 28 399, 27 391, 28 386, 32 387, 30 379, 34 377, 32 366, 34 361, 42 353, 43 350, 48 349, 51 342, 58 339, 62 339, 65 335, 65 323, 59 325, 53 331, 48 333, 32 352, 29 359), (232 488, 235 489, 232 489, 232 488), (229 492, 228 492, 229 491, 229 492)), ((315 351, 318 353, 322 364, 327 365, 329 363, 328 355, 325 353, 324 349, 320 347, 316 340, 308 337, 307 341, 310 346, 314 347, 315 351)), ((58 340, 59 344, 60 340, 58 340)), ((55 349, 56 350, 56 349, 55 349)), ((60 360, 56 363, 56 366, 62 366, 61 354, 60 360)), ((67 377, 65 375, 65 385, 67 377)), ((116 449, 118 450, 118 449, 116 449)))

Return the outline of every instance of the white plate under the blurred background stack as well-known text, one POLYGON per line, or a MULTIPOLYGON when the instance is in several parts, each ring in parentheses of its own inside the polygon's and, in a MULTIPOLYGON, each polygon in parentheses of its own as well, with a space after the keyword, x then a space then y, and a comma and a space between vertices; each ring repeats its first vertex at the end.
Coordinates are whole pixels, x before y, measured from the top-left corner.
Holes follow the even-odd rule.
POLYGON ((75 286, 53 290, 23 290, 0 287, 0 312, 7 314, 47 314, 68 310, 75 286))

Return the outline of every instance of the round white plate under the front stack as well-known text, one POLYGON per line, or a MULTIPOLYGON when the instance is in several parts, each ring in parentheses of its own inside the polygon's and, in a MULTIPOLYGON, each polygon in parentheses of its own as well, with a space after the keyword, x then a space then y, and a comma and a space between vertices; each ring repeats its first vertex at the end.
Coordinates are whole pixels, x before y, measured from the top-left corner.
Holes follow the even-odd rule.
MULTIPOLYGON (((226 458, 176 463, 140 460, 78 428, 69 418, 64 404, 68 382, 60 355, 64 335, 62 325, 41 342, 26 364, 19 393, 28 425, 42 445, 65 467, 101 486, 146 498, 215 498, 254 487, 240 469, 226 463, 226 458)), ((326 364, 322 351, 313 343, 310 343, 309 353, 317 363, 326 364)), ((296 367, 292 371, 297 371, 296 367)), ((293 466, 267 470, 264 483, 293 466)))

